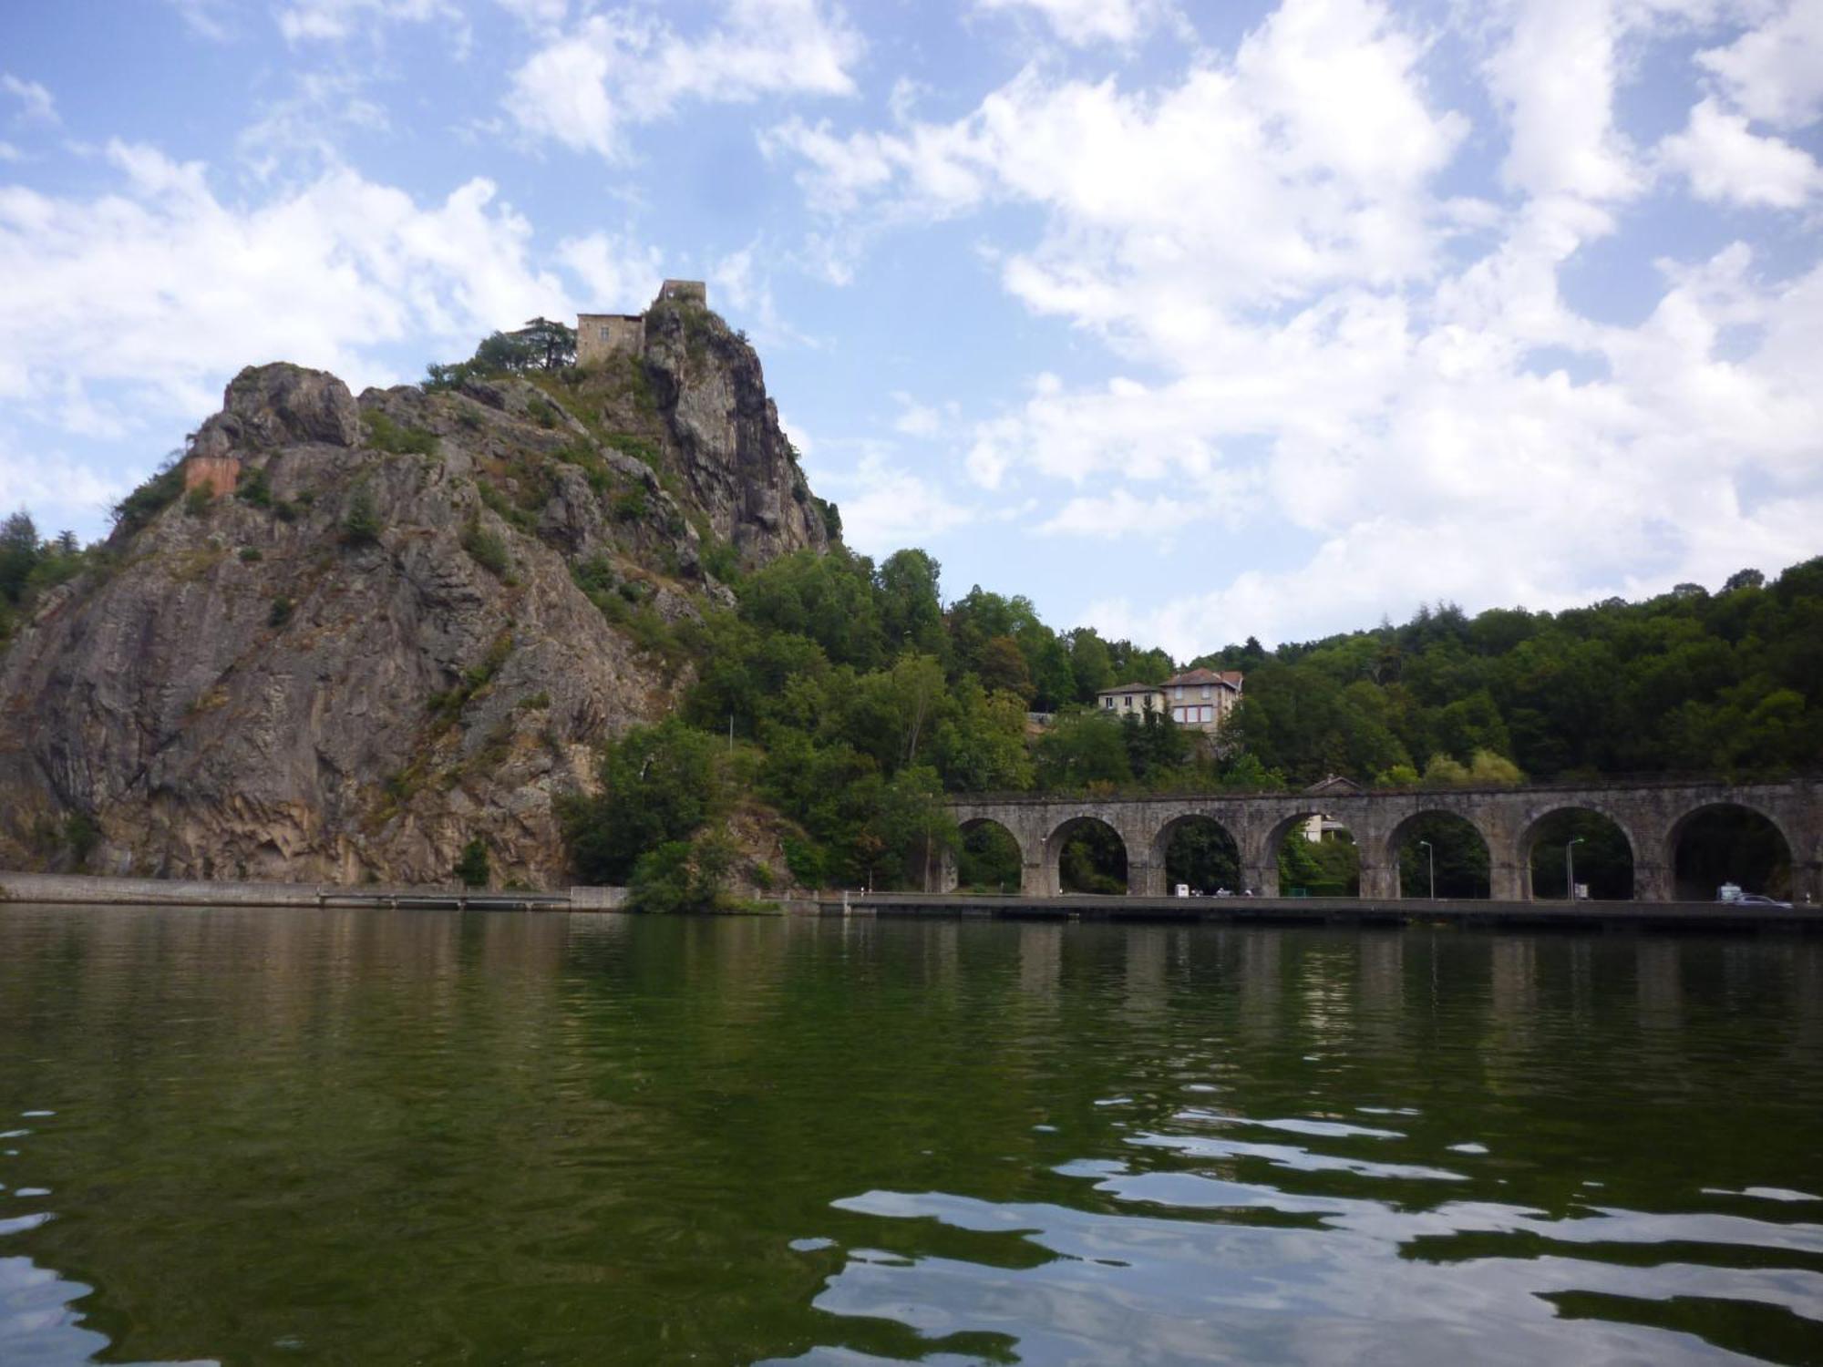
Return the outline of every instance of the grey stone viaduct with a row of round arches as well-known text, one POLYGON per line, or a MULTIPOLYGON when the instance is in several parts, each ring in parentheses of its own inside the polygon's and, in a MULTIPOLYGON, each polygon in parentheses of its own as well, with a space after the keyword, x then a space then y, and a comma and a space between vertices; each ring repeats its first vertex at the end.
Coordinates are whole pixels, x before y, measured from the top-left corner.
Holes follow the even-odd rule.
MULTIPOLYGON (((1692 817, 1715 807, 1759 813, 1785 837, 1792 855, 1796 900, 1823 899, 1823 791, 1808 780, 1788 784, 1639 782, 1564 787, 1497 787, 1353 793, 1212 793, 1200 797, 983 797, 950 802, 966 831, 994 822, 1019 844, 1025 864, 1019 891, 1056 897, 1057 858, 1083 820, 1110 826, 1127 846, 1127 886, 1134 895, 1165 895, 1165 851, 1183 822, 1212 820, 1234 840, 1241 877, 1265 897, 1278 895, 1278 849, 1305 818, 1322 811, 1345 824, 1360 848, 1362 897, 1400 897, 1398 849, 1411 822, 1429 813, 1468 820, 1488 844, 1491 897, 1531 899, 1531 848, 1540 822, 1559 811, 1608 817, 1633 851, 1633 897, 1674 899, 1677 842, 1692 817)), ((955 888, 955 868, 942 886, 955 888)))

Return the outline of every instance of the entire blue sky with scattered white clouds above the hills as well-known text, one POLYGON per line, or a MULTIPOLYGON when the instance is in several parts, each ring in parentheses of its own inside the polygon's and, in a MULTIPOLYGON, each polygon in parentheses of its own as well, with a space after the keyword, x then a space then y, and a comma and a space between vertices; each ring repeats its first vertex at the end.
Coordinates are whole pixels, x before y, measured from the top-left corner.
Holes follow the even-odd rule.
POLYGON ((0 509, 709 283, 857 550, 1165 645, 1823 552, 1823 0, 0 4, 0 509))

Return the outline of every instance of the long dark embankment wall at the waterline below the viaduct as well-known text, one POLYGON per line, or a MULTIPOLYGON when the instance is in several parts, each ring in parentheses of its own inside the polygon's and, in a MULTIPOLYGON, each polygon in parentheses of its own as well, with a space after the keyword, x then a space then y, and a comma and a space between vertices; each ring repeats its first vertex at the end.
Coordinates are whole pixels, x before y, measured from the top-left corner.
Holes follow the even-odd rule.
POLYGON ((822 897, 822 915, 1148 920, 1252 926, 1559 926, 1564 930, 1732 930, 1823 933, 1823 908, 1728 902, 1489 902, 1356 897, 822 897))

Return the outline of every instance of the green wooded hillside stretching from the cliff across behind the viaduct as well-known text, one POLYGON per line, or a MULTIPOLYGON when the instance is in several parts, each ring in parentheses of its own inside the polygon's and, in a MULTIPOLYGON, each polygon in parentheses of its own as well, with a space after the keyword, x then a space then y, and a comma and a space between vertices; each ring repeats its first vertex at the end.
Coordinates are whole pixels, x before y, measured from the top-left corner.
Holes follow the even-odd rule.
POLYGON ((1169 676, 1165 653, 1057 632, 979 587, 944 605, 921 550, 786 556, 736 594, 689 642, 680 714, 613 745, 600 793, 572 804, 585 877, 638 882, 664 849, 645 873, 664 871, 658 900, 687 904, 733 858, 704 833, 740 809, 784 818, 780 880, 879 886, 957 842, 944 791, 1746 776, 1823 753, 1823 560, 1770 583, 1743 570, 1715 594, 1473 618, 1440 605, 1278 651, 1249 640, 1192 662, 1247 674, 1214 749, 1163 716, 1092 711, 1097 689, 1169 676), (1057 716, 1039 727, 1028 711, 1057 716))

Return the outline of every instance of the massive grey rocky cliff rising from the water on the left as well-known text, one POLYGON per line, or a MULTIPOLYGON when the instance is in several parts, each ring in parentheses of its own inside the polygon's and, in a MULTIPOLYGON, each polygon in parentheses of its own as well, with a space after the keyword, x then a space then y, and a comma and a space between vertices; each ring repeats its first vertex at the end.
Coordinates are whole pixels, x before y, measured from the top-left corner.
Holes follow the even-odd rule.
POLYGON ((554 800, 662 714, 740 565, 824 549, 753 350, 368 390, 244 370, 0 658, 0 860, 170 877, 565 877, 554 800), (217 483, 221 478, 217 476, 217 483))

